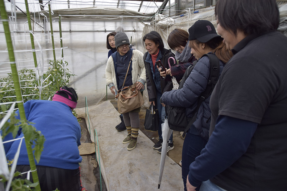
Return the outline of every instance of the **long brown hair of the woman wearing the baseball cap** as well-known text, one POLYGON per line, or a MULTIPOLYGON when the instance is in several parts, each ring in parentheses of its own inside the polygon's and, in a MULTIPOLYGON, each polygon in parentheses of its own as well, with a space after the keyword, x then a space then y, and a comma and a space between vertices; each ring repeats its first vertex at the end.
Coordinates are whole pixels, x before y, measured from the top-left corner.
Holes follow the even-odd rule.
MULTIPOLYGON (((200 43, 202 42, 198 40, 189 41, 189 44, 191 44, 192 48, 195 50, 197 50, 197 47, 194 47, 194 44, 199 45, 200 43)), ((212 53, 214 53, 216 57, 224 64, 226 64, 228 60, 233 56, 232 52, 228 50, 225 43, 223 43, 223 39, 221 37, 213 38, 204 44, 210 47, 212 49, 212 53)))

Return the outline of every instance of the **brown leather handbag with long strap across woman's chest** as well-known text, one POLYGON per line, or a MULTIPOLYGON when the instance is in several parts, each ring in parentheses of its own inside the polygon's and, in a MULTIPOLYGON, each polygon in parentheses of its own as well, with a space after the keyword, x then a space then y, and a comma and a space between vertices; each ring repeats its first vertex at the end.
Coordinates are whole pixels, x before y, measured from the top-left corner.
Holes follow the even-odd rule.
MULTIPOLYGON (((133 59, 133 55, 129 61, 129 66, 133 59)), ((129 67, 124 78, 124 83, 127 78, 128 72, 129 72, 129 67)), ((126 87, 124 87, 124 83, 123 83, 122 89, 120 89, 118 91, 118 94, 115 96, 118 99, 118 112, 119 113, 127 113, 130 111, 133 111, 134 109, 141 107, 144 104, 144 98, 142 94, 140 93, 140 91, 138 91, 136 87, 136 83, 134 83, 131 86, 126 86, 126 87)))

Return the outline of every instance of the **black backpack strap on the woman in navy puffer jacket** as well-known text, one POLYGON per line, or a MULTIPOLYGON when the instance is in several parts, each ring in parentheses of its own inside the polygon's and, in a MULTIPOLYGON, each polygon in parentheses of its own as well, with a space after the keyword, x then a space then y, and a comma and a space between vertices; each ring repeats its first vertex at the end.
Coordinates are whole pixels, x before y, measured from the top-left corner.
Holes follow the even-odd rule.
POLYGON ((185 128, 185 130, 184 130, 184 132, 182 134, 182 137, 185 136, 185 134, 188 131, 188 129, 195 122, 196 117, 197 117, 197 113, 198 113, 198 109, 199 109, 200 105, 202 104, 202 102, 206 98, 208 98, 211 95, 212 90, 213 90, 214 86, 216 85, 216 83, 217 83, 217 81, 219 79, 219 72, 220 72, 219 59, 214 54, 204 54, 204 55, 202 55, 202 57, 203 56, 208 56, 208 58, 209 58, 209 77, 208 77, 207 86, 206 86, 205 90, 200 94, 200 96, 198 98, 197 107, 194 110, 195 114, 192 116, 191 121, 188 123, 187 127, 185 128))

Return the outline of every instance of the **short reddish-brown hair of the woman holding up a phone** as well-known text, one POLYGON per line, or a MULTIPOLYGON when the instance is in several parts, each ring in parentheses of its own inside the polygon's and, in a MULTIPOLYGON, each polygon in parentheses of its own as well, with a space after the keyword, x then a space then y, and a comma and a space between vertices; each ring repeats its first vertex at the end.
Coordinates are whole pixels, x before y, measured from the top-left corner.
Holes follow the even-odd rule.
POLYGON ((188 41, 188 32, 182 29, 174 29, 168 35, 168 45, 171 49, 174 50, 175 47, 178 46, 186 46, 186 42, 188 41))

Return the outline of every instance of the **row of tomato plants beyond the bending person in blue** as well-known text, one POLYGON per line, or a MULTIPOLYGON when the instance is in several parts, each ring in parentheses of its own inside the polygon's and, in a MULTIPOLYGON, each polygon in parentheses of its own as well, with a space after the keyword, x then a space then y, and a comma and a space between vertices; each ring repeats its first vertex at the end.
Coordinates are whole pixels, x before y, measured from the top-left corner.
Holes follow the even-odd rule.
MULTIPOLYGON (((41 99, 48 100, 54 95, 54 93, 59 89, 55 82, 59 82, 59 87, 68 86, 69 79, 71 76, 75 76, 72 74, 69 69, 66 67, 68 63, 62 62, 62 60, 50 60, 48 70, 40 76, 43 78, 42 87, 46 86, 41 91, 41 99), (65 66, 65 69, 64 69, 65 66), (52 82, 50 84, 50 82, 52 82), (48 85, 49 84, 49 85, 48 85)), ((36 73, 33 69, 21 69, 18 71, 18 75, 20 78, 21 91, 23 95, 24 103, 31 99, 40 99, 39 88, 37 88, 38 81, 36 79, 36 73)), ((0 79, 0 101, 1 102, 14 102, 16 101, 15 96, 15 88, 12 79, 12 73, 8 73, 8 77, 0 79)), ((10 107, 8 104, 7 107, 10 107)), ((17 107, 17 106, 16 106, 17 107)), ((0 112, 3 112, 2 107, 0 108, 0 112)))

